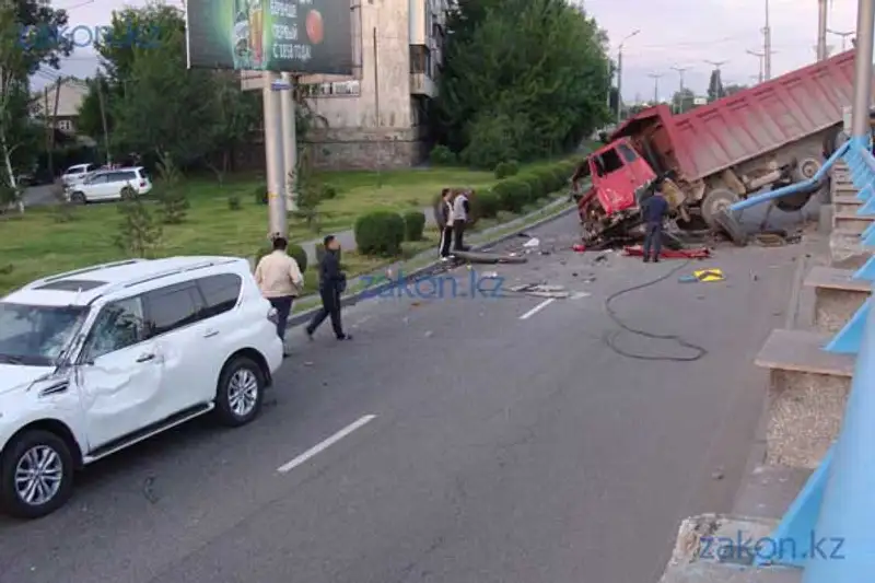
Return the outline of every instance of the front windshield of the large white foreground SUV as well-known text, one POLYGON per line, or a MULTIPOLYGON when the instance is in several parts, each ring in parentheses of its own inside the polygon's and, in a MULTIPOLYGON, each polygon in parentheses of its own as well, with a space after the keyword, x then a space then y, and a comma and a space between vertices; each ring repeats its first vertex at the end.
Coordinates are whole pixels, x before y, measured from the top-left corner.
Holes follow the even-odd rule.
POLYGON ((0 364, 55 365, 86 314, 82 306, 0 302, 0 364))

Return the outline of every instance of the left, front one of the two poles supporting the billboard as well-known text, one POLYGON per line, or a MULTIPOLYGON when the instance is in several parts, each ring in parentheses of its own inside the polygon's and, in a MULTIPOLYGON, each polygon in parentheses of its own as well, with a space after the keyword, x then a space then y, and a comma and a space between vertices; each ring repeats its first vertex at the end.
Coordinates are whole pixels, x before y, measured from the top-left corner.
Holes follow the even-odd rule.
POLYGON ((264 71, 265 83, 262 95, 265 101, 265 159, 267 163, 267 203, 270 224, 270 236, 285 236, 289 218, 285 213, 285 172, 283 170, 283 149, 280 112, 282 93, 273 91, 279 79, 277 73, 264 71))

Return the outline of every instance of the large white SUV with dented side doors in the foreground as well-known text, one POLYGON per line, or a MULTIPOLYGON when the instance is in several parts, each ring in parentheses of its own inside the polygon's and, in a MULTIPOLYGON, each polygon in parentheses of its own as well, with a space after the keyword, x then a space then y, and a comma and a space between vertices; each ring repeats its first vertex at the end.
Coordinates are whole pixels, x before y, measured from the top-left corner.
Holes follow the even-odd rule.
POLYGON ((63 505, 73 471, 210 411, 248 423, 282 363, 246 259, 132 259, 0 300, 0 505, 63 505))

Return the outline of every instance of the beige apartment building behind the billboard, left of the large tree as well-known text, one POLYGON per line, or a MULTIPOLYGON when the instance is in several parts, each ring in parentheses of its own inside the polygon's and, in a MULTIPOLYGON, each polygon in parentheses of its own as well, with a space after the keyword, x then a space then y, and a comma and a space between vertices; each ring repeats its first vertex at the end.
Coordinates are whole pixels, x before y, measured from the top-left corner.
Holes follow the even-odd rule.
MULTIPOLYGON (((436 96, 450 0, 353 0, 353 74, 305 75, 312 112, 324 127, 307 133, 324 168, 411 166, 428 154, 428 102, 436 96)), ((243 75, 260 89, 260 73, 243 75)))

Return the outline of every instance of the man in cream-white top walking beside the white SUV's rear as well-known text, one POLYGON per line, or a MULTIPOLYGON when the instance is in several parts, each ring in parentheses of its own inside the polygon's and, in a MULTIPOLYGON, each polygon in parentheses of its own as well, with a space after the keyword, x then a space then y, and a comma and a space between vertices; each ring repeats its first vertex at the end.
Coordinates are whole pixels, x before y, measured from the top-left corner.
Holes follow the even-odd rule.
POLYGON ((285 253, 288 247, 285 237, 275 237, 273 252, 261 257, 255 268, 255 281, 258 282, 261 295, 277 310, 277 335, 283 342, 292 303, 301 295, 304 285, 304 276, 298 261, 285 253))

